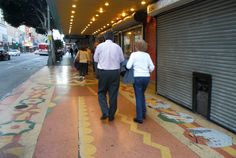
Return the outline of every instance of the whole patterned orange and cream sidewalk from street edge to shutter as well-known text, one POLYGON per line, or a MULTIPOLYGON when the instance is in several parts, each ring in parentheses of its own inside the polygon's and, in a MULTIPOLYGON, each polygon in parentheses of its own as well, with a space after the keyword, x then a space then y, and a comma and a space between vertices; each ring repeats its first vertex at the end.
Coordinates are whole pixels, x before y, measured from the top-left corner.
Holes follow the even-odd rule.
POLYGON ((101 121, 92 69, 80 81, 70 65, 44 67, 0 102, 0 158, 236 157, 235 134, 155 95, 154 87, 143 124, 133 122, 133 88, 122 83, 115 120, 101 121))

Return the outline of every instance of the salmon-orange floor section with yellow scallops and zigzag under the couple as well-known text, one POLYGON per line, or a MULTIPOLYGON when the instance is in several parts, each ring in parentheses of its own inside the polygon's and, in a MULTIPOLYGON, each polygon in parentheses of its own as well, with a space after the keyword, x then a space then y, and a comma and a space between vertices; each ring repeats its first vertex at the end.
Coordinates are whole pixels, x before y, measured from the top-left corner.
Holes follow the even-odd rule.
MULTIPOLYGON (((91 89, 91 91, 94 90, 91 89)), ((115 121, 109 122, 99 119, 100 109, 97 96, 79 97, 79 151, 81 157, 118 158, 121 156, 114 155, 114 153, 121 153, 122 157, 129 158, 198 157, 154 121, 148 120, 149 125, 138 125, 133 122, 135 106, 131 105, 122 95, 119 96, 119 102, 115 121), (152 125, 150 126, 150 124, 152 125), (88 148, 90 146, 91 148, 88 148)))

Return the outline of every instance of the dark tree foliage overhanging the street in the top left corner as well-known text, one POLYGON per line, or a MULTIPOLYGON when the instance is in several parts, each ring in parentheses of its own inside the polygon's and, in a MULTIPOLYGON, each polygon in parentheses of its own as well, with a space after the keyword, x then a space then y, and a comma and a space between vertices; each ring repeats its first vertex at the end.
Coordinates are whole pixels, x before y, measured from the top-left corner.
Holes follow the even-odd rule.
POLYGON ((14 27, 26 25, 38 33, 47 31, 46 0, 0 0, 4 20, 14 27))

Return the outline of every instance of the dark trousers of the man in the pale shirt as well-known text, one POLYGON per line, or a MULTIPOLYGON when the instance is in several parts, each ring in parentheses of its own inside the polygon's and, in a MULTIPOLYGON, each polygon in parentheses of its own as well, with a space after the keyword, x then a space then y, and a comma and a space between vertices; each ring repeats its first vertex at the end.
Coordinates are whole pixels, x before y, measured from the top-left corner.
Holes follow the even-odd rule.
POLYGON ((120 70, 98 70, 98 101, 103 116, 109 116, 114 119, 117 109, 117 96, 120 85, 120 70), (106 94, 109 95, 109 105, 107 103, 106 94))

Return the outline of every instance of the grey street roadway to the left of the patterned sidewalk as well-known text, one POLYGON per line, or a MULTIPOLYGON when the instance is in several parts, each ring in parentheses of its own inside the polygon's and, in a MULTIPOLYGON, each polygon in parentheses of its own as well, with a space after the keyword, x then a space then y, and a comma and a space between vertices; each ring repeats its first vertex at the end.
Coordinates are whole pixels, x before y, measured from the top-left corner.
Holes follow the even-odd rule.
POLYGON ((14 88, 46 66, 47 59, 48 56, 22 53, 20 56, 11 56, 11 60, 0 61, 0 100, 10 95, 14 88))

